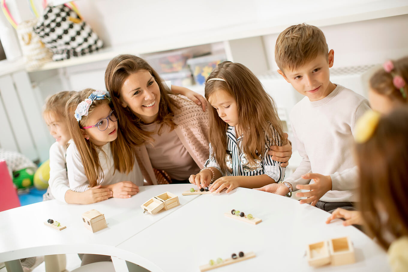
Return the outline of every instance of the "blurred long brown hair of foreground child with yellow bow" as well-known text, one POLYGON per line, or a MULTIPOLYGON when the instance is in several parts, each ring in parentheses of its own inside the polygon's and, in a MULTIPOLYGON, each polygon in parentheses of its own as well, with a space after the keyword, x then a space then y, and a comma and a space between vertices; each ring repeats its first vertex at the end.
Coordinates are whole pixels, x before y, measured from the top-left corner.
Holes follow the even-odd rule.
POLYGON ((381 117, 373 136, 356 145, 360 205, 369 234, 388 249, 386 233, 408 235, 408 109, 381 117), (381 214, 388 221, 381 220, 381 214))

